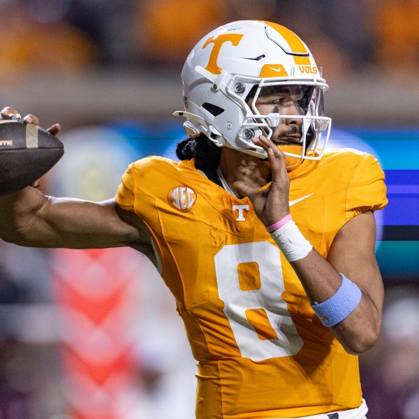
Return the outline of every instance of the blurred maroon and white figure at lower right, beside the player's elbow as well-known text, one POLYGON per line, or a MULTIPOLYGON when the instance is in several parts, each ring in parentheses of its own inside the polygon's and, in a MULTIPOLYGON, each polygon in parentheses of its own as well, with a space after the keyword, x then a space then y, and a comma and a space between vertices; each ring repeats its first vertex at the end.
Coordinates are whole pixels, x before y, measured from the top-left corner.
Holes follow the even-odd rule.
POLYGON ((360 372, 368 419, 419 418, 419 284, 387 286, 381 338, 360 372))

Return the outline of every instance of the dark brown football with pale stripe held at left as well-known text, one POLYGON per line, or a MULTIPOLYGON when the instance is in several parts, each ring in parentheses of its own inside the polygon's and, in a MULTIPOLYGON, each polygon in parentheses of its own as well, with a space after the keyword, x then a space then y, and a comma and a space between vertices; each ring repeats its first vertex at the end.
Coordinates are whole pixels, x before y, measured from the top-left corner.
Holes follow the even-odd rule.
POLYGON ((34 124, 0 120, 0 195, 20 191, 44 175, 64 154, 63 143, 34 124))

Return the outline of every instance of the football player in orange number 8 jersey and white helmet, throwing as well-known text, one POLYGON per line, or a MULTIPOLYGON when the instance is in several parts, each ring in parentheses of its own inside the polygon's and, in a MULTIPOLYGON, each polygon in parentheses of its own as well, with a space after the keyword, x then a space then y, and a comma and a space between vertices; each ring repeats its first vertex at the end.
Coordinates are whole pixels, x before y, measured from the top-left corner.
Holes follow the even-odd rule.
POLYGON ((182 80, 181 161, 132 163, 103 203, 31 187, 3 196, 1 237, 147 254, 198 360, 198 419, 365 418, 357 355, 381 328, 383 171, 369 154, 326 149, 328 84, 279 24, 215 29, 182 80))

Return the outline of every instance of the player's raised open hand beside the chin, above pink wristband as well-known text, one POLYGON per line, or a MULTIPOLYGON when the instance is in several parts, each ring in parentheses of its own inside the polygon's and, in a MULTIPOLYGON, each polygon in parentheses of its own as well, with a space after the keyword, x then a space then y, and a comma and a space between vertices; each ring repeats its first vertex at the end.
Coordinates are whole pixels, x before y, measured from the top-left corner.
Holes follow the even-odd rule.
POLYGON ((237 181, 233 186, 248 196, 256 215, 265 226, 270 226, 290 213, 290 178, 286 171, 285 155, 271 140, 260 135, 253 143, 267 152, 272 170, 272 182, 268 188, 260 189, 259 184, 237 181))

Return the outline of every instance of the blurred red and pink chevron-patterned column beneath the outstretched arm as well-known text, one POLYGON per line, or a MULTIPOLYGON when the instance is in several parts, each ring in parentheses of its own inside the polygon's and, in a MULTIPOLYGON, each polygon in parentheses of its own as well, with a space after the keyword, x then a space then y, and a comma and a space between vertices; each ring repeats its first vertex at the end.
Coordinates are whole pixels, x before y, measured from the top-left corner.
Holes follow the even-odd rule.
POLYGON ((75 419, 123 419, 137 383, 133 321, 138 253, 131 249, 52 251, 64 394, 75 419))

